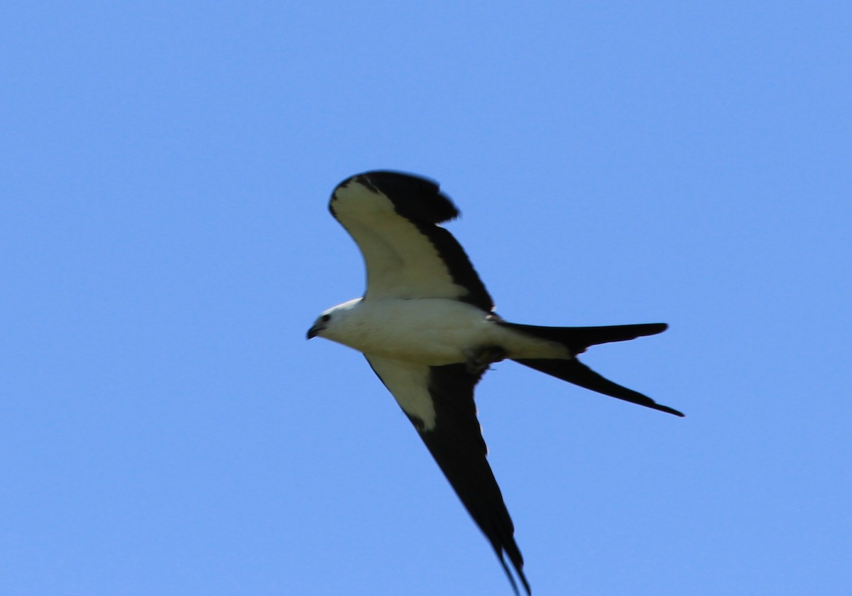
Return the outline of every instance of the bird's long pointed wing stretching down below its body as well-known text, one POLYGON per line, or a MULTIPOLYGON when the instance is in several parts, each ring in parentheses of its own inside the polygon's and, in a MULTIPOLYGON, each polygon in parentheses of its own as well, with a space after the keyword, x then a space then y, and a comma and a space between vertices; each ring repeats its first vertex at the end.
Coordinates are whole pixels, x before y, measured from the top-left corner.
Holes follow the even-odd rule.
POLYGON ((474 387, 482 374, 469 373, 464 364, 429 367, 390 358, 366 357, 412 421, 470 516, 491 542, 515 593, 517 587, 504 553, 529 593, 523 572, 524 560, 515 542, 515 526, 491 466, 488 466, 486 444, 476 420, 474 387))

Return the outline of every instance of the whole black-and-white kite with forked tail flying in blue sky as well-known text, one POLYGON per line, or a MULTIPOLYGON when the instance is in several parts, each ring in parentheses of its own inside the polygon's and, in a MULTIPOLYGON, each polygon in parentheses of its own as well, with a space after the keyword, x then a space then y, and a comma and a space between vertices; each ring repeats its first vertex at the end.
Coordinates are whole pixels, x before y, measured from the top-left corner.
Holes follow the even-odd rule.
POLYGON ((617 385, 579 362, 586 348, 665 331, 665 323, 538 327, 504 321, 444 223, 458 209, 437 183, 394 171, 351 176, 329 211, 358 244, 367 286, 325 310, 308 330, 366 356, 458 498, 491 543, 515 593, 527 594, 515 527, 486 460, 474 387, 495 362, 513 360, 591 391, 668 414, 676 409, 617 385))

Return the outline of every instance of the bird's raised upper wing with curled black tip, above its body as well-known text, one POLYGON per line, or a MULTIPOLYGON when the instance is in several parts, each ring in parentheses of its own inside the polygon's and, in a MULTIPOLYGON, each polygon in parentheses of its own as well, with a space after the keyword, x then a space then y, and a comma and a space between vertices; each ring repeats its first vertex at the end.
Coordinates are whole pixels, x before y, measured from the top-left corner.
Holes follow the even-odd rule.
POLYGON ((455 298, 492 310, 463 248, 436 225, 457 217, 458 210, 435 182, 366 172, 337 185, 329 211, 364 255, 365 298, 455 298))

